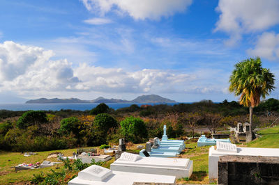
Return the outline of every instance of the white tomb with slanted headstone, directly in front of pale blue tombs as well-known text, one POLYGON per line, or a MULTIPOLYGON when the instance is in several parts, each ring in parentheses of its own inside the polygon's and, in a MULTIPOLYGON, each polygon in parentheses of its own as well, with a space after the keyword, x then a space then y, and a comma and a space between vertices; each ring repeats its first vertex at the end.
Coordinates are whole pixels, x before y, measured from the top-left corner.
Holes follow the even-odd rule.
POLYGON ((122 172, 174 175, 176 178, 181 178, 192 175, 193 161, 181 158, 142 157, 124 152, 110 165, 110 169, 122 172))

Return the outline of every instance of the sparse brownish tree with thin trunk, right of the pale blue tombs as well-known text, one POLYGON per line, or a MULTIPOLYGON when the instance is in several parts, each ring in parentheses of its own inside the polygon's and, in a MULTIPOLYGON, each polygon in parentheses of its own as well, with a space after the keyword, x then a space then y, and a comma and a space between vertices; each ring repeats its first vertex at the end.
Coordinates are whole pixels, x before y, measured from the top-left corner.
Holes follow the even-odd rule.
POLYGON ((195 128, 197 124, 202 120, 202 116, 199 113, 181 113, 181 117, 179 118, 179 122, 182 124, 186 124, 188 129, 191 129, 192 136, 195 136, 195 128))

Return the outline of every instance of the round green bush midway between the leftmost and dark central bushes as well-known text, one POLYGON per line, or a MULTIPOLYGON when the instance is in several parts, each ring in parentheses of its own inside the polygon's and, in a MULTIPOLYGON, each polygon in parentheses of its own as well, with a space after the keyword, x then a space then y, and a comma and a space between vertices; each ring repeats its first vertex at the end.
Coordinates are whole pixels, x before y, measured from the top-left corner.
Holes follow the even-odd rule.
POLYGON ((73 132, 73 134, 78 134, 79 123, 80 121, 76 117, 64 118, 60 122, 60 131, 63 134, 69 134, 70 132, 73 132))

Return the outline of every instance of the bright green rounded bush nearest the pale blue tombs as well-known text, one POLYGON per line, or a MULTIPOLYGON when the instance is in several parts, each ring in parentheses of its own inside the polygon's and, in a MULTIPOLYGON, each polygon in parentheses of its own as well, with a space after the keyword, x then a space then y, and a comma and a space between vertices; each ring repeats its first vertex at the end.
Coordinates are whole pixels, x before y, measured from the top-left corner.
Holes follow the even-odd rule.
POLYGON ((121 132, 127 140, 133 143, 143 142, 147 138, 147 130, 144 121, 140 118, 130 116, 120 122, 121 132))

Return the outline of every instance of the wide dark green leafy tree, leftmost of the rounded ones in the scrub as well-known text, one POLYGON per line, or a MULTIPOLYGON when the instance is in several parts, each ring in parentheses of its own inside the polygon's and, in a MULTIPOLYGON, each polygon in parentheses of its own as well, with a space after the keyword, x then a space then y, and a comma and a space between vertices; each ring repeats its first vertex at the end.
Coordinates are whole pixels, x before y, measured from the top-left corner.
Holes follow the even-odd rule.
POLYGON ((17 127, 25 129, 34 124, 47 122, 47 115, 44 111, 27 111, 17 120, 17 127))

